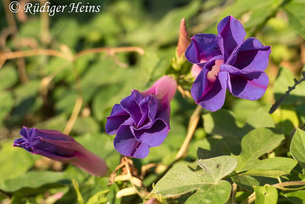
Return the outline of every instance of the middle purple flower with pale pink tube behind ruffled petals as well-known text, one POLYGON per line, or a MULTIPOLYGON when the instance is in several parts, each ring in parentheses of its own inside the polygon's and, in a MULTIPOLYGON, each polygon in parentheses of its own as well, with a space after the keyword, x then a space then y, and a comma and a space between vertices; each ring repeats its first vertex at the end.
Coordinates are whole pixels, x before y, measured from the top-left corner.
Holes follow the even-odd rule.
POLYGON ((169 103, 176 87, 176 82, 165 75, 148 90, 132 90, 130 96, 113 106, 106 132, 116 134, 113 142, 120 154, 142 159, 149 147, 163 143, 170 130, 169 103))

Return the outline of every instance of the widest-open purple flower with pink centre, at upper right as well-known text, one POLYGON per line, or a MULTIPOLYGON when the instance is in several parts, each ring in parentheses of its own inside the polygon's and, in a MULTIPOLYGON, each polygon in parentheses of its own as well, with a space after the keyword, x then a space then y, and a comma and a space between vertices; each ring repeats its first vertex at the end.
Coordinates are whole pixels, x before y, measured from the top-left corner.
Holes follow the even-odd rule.
POLYGON ((225 91, 234 96, 257 100, 267 89, 270 46, 256 38, 247 38, 242 24, 232 16, 222 19, 218 35, 192 37, 185 56, 193 63, 196 78, 191 94, 202 108, 217 111, 223 106, 225 91))

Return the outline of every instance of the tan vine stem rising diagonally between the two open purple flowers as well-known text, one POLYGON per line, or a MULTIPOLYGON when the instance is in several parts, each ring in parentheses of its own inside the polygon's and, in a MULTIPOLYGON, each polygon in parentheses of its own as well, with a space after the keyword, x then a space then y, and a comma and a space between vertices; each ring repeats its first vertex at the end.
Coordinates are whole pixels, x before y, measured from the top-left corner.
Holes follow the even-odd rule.
POLYGON ((185 138, 182 146, 180 147, 180 149, 175 157, 175 160, 179 160, 180 158, 182 158, 185 155, 185 153, 188 149, 189 143, 196 130, 198 121, 200 119, 201 109, 202 108, 200 106, 197 106, 196 109, 194 110, 193 114, 191 115, 186 138, 185 138))

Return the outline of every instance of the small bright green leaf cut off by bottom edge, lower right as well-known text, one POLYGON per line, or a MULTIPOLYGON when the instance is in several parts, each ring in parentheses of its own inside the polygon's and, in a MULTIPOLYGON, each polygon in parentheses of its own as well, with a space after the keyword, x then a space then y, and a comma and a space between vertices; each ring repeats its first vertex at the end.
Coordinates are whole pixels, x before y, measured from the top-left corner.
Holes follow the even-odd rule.
POLYGON ((277 189, 273 186, 258 186, 255 188, 256 204, 276 204, 277 189))

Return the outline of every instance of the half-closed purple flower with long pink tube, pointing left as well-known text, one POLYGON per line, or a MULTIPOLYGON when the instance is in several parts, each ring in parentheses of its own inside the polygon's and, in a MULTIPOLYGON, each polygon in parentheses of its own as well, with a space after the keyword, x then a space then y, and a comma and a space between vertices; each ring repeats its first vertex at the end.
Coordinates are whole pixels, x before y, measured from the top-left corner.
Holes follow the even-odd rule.
POLYGON ((95 176, 107 173, 107 165, 103 159, 60 131, 23 127, 20 135, 22 138, 16 139, 13 146, 26 149, 34 155, 74 164, 95 176))

